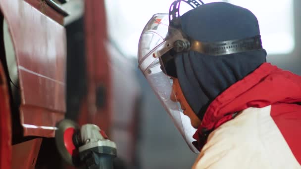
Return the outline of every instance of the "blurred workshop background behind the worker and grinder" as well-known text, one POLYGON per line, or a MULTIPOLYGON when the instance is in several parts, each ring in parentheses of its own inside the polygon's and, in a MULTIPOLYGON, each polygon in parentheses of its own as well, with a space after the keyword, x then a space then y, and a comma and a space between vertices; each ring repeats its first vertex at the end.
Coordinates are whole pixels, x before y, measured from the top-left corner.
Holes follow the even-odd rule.
MULTIPOLYGON (((250 9, 258 18, 268 62, 301 75, 300 0, 203 1, 250 9)), ((106 130, 117 144, 120 168, 188 169, 197 157, 138 70, 140 34, 151 16, 168 13, 172 2, 69 0, 63 5, 70 13, 65 18, 66 118, 106 130)), ((180 13, 187 10, 183 5, 180 13)))

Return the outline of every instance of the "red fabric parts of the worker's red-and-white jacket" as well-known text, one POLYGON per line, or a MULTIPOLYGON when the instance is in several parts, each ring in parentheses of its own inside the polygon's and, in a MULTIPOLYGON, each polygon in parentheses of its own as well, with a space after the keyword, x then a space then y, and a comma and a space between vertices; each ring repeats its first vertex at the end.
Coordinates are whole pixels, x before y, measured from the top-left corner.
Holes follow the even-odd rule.
POLYGON ((202 124, 194 135, 194 138, 197 139, 194 144, 199 150, 202 150, 203 146, 209 141, 206 137, 210 134, 209 137, 211 138, 212 132, 236 119, 238 113, 244 114, 244 111, 249 108, 270 106, 268 110, 270 118, 278 127, 283 139, 300 165, 300 103, 301 77, 269 63, 264 63, 250 75, 233 84, 215 98, 209 105, 202 124))

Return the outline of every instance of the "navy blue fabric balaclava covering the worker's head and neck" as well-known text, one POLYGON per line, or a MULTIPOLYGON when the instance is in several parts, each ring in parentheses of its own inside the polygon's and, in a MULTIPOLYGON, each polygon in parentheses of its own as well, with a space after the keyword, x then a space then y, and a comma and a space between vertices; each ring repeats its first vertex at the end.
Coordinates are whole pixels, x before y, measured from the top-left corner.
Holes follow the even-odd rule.
MULTIPOLYGON (((258 21, 248 9, 226 3, 203 4, 181 16, 182 29, 201 42, 219 42, 260 35, 258 21)), ((189 51, 174 64, 185 98, 202 120, 208 105, 221 92, 266 61, 264 49, 222 56, 189 51)))

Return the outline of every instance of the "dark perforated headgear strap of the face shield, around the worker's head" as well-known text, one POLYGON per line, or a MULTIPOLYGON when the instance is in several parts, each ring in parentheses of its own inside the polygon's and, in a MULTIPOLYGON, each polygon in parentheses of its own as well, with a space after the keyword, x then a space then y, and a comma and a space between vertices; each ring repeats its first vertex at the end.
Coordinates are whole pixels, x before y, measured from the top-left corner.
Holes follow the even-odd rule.
POLYGON ((206 55, 226 55, 239 52, 246 52, 251 50, 262 49, 261 36, 257 35, 240 40, 230 40, 222 42, 200 42, 185 35, 182 30, 180 19, 180 3, 186 2, 191 7, 196 8, 204 4, 201 0, 175 0, 169 8, 169 26, 180 30, 184 39, 176 40, 173 44, 174 51, 177 53, 187 52, 190 50, 200 52, 206 55))

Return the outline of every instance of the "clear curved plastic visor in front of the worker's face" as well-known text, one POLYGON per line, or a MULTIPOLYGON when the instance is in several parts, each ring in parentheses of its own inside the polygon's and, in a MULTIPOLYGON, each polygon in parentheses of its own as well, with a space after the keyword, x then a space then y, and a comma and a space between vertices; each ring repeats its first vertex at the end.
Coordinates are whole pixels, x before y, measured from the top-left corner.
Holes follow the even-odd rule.
POLYGON ((162 69, 165 68, 160 64, 160 57, 172 49, 173 43, 179 39, 183 39, 181 32, 168 27, 168 14, 153 15, 140 37, 138 62, 140 70, 190 149, 198 153, 199 151, 192 144, 195 141, 193 134, 196 129, 192 127, 189 117, 184 115, 173 90, 173 81, 164 74, 162 69))

